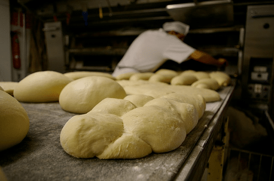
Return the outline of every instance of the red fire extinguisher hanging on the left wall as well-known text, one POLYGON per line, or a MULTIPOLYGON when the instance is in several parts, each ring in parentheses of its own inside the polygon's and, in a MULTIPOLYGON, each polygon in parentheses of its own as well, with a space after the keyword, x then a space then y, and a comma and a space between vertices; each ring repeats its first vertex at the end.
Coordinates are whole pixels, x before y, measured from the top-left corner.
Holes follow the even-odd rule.
POLYGON ((20 69, 21 60, 20 60, 20 46, 19 46, 19 38, 17 32, 11 32, 11 49, 12 49, 12 62, 13 67, 16 69, 20 69))

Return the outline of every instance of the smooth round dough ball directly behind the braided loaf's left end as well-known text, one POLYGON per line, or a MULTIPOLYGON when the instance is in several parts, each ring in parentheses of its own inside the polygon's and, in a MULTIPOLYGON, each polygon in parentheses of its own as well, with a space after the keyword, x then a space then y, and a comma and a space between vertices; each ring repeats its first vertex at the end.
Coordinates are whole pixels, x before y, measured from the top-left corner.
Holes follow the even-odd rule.
POLYGON ((70 82, 60 93, 61 108, 71 113, 85 114, 105 98, 124 99, 124 88, 107 77, 89 76, 70 82))

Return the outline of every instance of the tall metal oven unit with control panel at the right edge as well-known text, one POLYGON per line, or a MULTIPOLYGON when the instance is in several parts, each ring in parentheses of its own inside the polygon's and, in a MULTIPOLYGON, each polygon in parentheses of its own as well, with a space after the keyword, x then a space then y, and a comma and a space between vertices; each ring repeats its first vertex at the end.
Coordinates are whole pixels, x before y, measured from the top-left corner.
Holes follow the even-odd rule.
POLYGON ((270 106, 274 80, 274 4, 247 7, 242 97, 270 106))

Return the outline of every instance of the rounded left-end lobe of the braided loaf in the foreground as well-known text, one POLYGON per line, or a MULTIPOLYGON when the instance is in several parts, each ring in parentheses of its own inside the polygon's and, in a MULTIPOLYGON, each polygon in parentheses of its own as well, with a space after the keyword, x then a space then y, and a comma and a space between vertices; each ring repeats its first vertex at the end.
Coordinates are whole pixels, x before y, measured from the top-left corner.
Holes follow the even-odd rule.
POLYGON ((123 121, 112 114, 84 114, 72 117, 60 134, 63 149, 77 158, 92 158, 124 132, 123 121))

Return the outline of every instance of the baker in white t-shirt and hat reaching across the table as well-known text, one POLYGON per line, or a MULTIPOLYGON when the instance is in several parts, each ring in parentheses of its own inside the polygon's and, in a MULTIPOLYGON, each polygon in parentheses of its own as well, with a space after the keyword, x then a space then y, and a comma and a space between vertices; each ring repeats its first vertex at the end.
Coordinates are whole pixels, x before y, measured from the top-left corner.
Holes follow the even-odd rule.
POLYGON ((128 72, 154 72, 165 61, 182 63, 196 60, 205 64, 221 67, 227 60, 214 59, 205 52, 196 50, 183 42, 189 25, 179 21, 166 22, 163 28, 141 33, 131 44, 128 51, 117 64, 113 76, 128 72))

